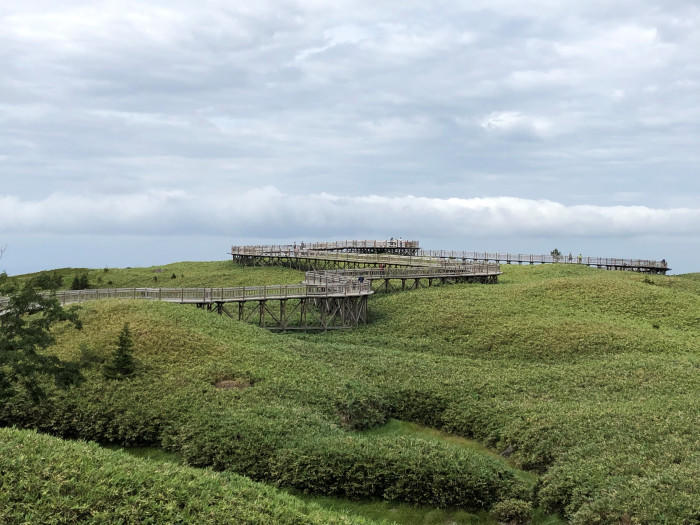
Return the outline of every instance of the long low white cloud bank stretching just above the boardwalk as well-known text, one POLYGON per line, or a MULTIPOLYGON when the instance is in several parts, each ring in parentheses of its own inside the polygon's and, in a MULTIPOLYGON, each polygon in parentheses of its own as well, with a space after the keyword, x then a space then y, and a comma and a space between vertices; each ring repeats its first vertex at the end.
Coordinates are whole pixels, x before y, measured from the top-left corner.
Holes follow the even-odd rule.
POLYGON ((516 197, 430 198, 329 193, 287 194, 274 187, 197 195, 184 191, 119 196, 0 197, 1 233, 229 234, 332 237, 404 231, 480 235, 638 236, 700 234, 700 208, 594 206, 516 197))

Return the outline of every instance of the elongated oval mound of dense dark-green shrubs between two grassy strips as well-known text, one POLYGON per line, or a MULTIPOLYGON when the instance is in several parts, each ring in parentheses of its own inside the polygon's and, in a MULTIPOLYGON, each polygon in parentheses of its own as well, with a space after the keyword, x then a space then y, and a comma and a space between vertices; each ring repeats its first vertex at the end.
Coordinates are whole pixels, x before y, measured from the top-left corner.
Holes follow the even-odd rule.
POLYGON ((488 508, 528 491, 502 462, 406 437, 323 439, 283 449, 272 459, 270 474, 279 485, 307 493, 436 507, 488 508))

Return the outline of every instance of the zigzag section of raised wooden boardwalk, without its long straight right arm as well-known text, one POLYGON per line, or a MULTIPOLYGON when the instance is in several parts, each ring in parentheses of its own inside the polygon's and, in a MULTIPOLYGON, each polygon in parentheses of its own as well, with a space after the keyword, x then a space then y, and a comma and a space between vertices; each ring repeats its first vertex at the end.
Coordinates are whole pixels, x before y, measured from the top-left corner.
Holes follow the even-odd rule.
MULTIPOLYGON (((284 264, 308 270, 299 284, 235 288, 100 288, 55 292, 61 304, 140 299, 194 304, 276 330, 330 330, 367 322, 367 299, 390 292, 458 282, 496 283, 500 265, 417 256, 417 241, 342 241, 301 246, 245 246, 241 264, 284 264)), ((53 294, 53 292, 50 292, 53 294)), ((46 292, 49 294, 49 292, 46 292)), ((7 307, 0 298, 0 314, 7 307)))

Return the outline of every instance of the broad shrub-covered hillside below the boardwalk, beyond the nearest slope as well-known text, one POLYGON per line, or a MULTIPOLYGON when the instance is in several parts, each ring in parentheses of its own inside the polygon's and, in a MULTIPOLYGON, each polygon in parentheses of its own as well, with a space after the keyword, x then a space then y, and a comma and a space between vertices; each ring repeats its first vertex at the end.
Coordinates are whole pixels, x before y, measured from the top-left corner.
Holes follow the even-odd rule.
MULTIPOLYGON (((241 272, 248 271, 240 270, 241 272)), ((692 279, 504 267, 498 285, 371 299, 357 330, 276 335, 194 308, 83 306, 52 350, 86 382, 0 421, 152 443, 194 466, 315 494, 490 508, 533 500, 574 523, 700 517, 700 289, 692 279), (138 374, 104 379, 125 321, 138 374), (228 379, 231 389, 216 384, 228 379), (475 437, 492 455, 362 432, 387 418, 475 437)))

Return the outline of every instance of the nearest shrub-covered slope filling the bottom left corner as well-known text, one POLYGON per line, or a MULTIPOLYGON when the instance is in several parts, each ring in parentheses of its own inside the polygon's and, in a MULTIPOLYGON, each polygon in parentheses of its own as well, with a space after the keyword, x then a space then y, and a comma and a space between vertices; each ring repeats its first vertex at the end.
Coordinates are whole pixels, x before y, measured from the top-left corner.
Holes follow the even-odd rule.
POLYGON ((0 428, 0 523, 363 524, 229 473, 0 428))

